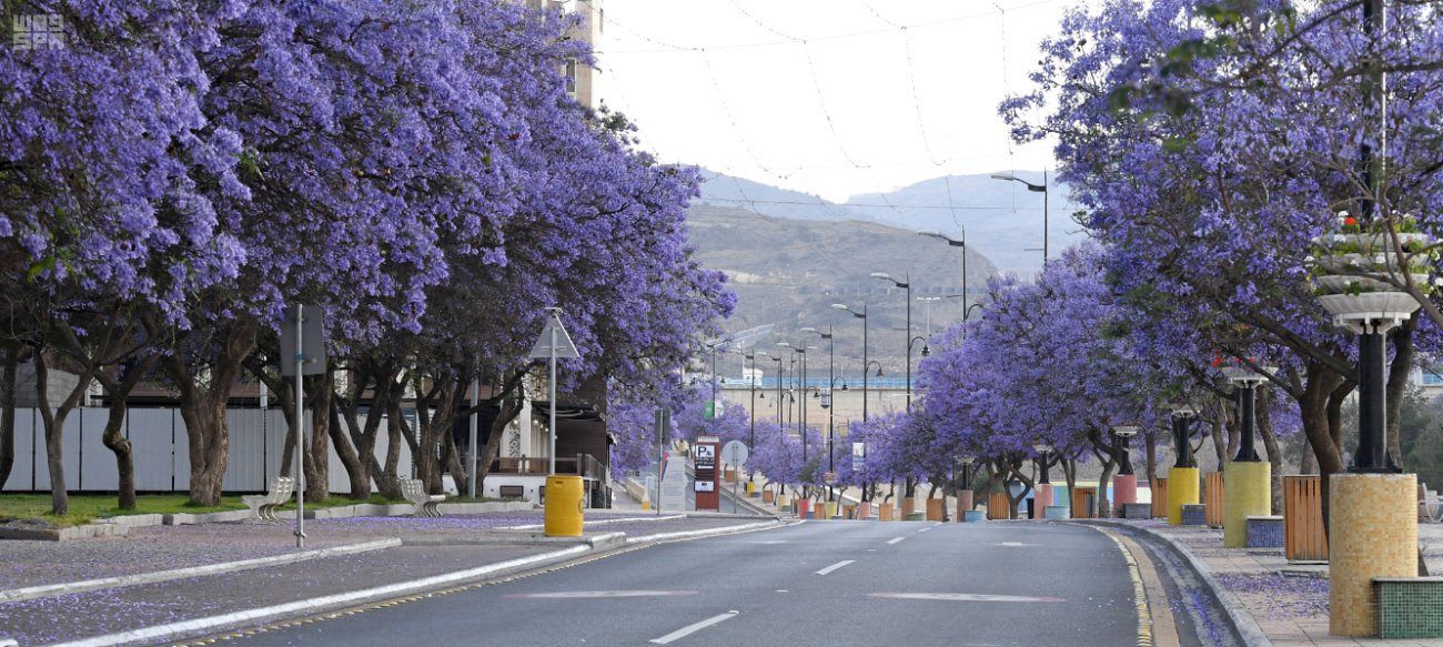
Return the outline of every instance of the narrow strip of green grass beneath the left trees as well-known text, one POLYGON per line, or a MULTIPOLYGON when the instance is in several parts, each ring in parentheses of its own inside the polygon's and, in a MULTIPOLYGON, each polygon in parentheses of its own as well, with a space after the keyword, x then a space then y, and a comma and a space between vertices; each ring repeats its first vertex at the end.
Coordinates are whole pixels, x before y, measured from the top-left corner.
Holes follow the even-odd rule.
MULTIPOLYGON (((55 516, 51 514, 49 494, 0 494, 0 518, 36 518, 56 527, 68 527, 82 526, 97 518, 127 514, 205 514, 224 513, 227 510, 245 510, 245 504, 241 503, 241 497, 224 497, 221 498, 219 505, 190 505, 189 497, 185 494, 144 494, 136 497, 136 510, 117 508, 117 498, 114 494, 72 494, 69 498, 69 513, 55 516)), ((352 501, 343 495, 333 495, 322 503, 306 501, 306 507, 330 508, 338 505, 351 505, 355 503, 361 501, 352 501)), ((385 497, 377 494, 365 503, 387 504, 395 501, 388 501, 385 497)), ((294 508, 294 503, 281 507, 281 510, 294 508)))

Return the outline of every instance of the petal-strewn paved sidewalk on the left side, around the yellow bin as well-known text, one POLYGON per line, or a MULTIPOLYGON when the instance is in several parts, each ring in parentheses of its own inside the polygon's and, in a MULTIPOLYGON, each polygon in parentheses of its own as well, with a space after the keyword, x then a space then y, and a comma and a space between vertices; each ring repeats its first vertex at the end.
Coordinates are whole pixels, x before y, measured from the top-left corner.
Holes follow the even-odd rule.
MULTIPOLYGON (((172 625, 271 622, 255 609, 294 607, 286 617, 365 605, 434 588, 504 576, 620 547, 626 539, 683 531, 727 531, 766 518, 681 517, 587 513, 584 537, 540 537, 517 529, 543 521, 541 513, 470 517, 359 517, 306 523, 307 550, 355 544, 367 550, 258 565, 219 575, 189 575, 153 583, 46 592, 0 604, 0 643, 22 647, 74 641, 172 625), (622 536, 620 533, 625 533, 622 536), (388 542, 387 542, 388 540, 388 542), (408 543, 410 542, 410 543, 408 543), (590 543, 596 543, 592 546, 590 543), (488 569, 488 566, 495 566, 488 569), (420 585, 418 581, 431 579, 420 585), (450 579, 449 579, 450 578, 450 579), (361 595, 387 588, 375 595, 361 595), (317 598, 335 596, 330 601, 317 598), (237 615, 238 614, 238 615, 237 615)), ((294 555, 290 526, 219 523, 137 529, 128 537, 79 542, 0 542, 0 595, 20 588, 97 578, 154 573, 186 566, 225 568, 241 559, 294 555)), ((215 628, 205 633, 214 633, 215 628)), ((156 640, 176 638, 183 634, 156 640)), ((139 638, 115 638, 130 644, 139 638)))

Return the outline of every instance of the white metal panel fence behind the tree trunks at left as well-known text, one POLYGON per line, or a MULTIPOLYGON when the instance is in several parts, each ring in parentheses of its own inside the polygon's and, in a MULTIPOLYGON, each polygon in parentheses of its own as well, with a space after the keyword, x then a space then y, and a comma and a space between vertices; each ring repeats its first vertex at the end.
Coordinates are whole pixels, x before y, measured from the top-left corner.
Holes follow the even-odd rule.
MULTIPOLYGON (((45 423, 36 409, 16 409, 14 468, 4 482, 6 492, 42 492, 51 488, 45 459, 45 423)), ((110 409, 81 407, 65 419, 62 456, 65 481, 71 491, 113 491, 117 488, 115 455, 101 436, 110 409)), ((309 413, 307 413, 309 417, 309 413)), ((286 417, 278 410, 227 409, 229 458, 222 488, 228 492, 266 490, 280 469, 286 442, 286 417)), ((365 425, 365 417, 361 417, 365 425)), ((143 492, 185 492, 190 484, 190 453, 185 420, 177 409, 130 409, 126 412, 126 438, 136 461, 136 490, 143 492)), ((387 420, 377 430, 375 456, 385 459, 387 420)), ((401 469, 411 465, 411 451, 401 442, 401 469)), ((330 491, 346 492, 351 481, 345 466, 330 451, 330 491)), ((374 488, 372 488, 374 490, 374 488)))

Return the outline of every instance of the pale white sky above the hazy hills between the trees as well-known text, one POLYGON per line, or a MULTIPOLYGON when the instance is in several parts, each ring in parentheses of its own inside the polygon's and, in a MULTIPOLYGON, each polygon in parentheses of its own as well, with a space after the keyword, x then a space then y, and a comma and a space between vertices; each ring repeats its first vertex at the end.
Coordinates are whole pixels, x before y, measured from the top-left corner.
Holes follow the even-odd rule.
POLYGON ((600 95, 665 162, 841 201, 1051 166, 997 104, 1076 0, 602 0, 600 95))

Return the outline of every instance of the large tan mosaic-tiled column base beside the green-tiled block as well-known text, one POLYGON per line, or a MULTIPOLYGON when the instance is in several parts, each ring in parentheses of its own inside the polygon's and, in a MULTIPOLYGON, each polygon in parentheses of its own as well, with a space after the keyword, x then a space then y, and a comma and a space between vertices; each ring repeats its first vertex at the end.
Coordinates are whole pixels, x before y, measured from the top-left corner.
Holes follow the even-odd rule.
POLYGON ((1329 484, 1329 633, 1378 635, 1372 578, 1418 575, 1418 479, 1333 474, 1329 484))

